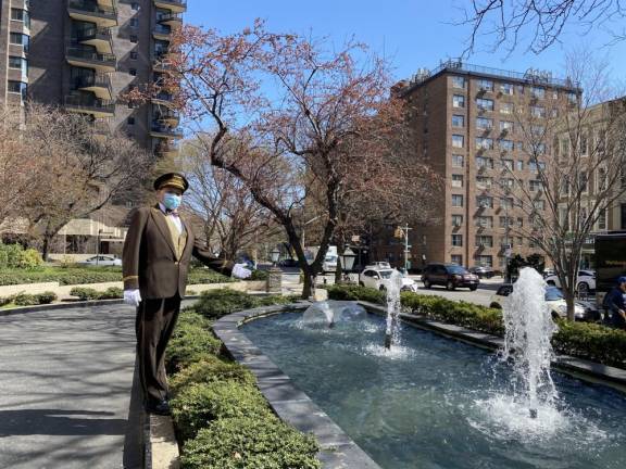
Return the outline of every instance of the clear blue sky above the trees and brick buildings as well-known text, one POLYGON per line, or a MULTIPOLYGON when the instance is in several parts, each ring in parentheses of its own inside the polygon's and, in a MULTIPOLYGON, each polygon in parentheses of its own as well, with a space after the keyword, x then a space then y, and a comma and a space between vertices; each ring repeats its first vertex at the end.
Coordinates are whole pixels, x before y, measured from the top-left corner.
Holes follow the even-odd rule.
MULTIPOLYGON (((231 33, 264 18, 273 31, 328 36, 337 45, 354 36, 374 51, 385 53, 395 68, 396 78, 406 78, 417 68, 433 68, 440 60, 458 56, 464 49, 468 29, 452 23, 462 17, 459 5, 468 0, 238 0, 214 2, 188 0, 187 23, 231 33)), ((598 50, 610 63, 618 81, 626 78, 626 41, 604 48, 610 36, 594 30, 586 36, 576 25, 566 29, 563 45, 535 55, 519 48, 511 56, 504 50, 491 52, 491 40, 481 40, 483 51, 468 63, 524 72, 549 69, 555 77, 564 75, 565 51, 587 46, 598 50)))

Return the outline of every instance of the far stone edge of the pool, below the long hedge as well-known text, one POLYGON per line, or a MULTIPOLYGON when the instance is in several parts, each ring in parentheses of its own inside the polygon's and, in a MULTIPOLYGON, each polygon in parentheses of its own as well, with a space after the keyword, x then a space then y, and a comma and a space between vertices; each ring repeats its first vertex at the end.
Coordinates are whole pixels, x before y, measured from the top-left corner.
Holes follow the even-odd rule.
MULTIPOLYGON (((359 301, 358 303, 371 313, 373 312, 381 316, 387 314, 387 309, 380 305, 364 301, 359 301)), ((410 326, 429 330, 474 346, 498 350, 504 344, 504 340, 501 337, 475 331, 461 326, 439 322, 428 319, 425 316, 402 313, 400 314, 400 318, 410 326)), ((560 372, 583 381, 604 384, 626 393, 626 370, 621 368, 601 365, 569 355, 556 355, 552 367, 560 372)))

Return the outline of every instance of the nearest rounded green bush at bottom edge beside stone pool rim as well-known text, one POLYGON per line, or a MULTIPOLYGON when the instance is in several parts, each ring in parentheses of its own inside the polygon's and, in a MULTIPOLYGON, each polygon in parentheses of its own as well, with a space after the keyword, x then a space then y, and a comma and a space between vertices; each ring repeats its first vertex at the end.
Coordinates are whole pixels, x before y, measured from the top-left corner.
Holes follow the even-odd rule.
POLYGON ((315 439, 270 415, 212 421, 189 441, 184 469, 318 469, 315 439))

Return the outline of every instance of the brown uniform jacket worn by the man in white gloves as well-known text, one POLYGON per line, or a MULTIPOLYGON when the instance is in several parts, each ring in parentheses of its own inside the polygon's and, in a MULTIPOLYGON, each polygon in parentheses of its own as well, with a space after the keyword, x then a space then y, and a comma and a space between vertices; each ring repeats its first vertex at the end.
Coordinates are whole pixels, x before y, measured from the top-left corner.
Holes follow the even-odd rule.
POLYGON ((139 289, 143 300, 185 296, 191 255, 230 276, 233 263, 213 257, 198 241, 190 224, 181 219, 187 239, 179 256, 165 214, 159 205, 133 212, 124 241, 124 289, 139 289))

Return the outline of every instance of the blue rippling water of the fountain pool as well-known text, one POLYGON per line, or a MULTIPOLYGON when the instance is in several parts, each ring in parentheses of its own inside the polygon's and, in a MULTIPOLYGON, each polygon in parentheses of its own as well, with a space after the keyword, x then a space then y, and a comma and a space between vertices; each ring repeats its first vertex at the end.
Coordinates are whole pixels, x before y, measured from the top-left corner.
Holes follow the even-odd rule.
POLYGON ((626 396, 552 373, 538 418, 517 405, 515 373, 494 354, 351 309, 285 313, 241 330, 386 469, 623 469, 626 396), (510 391, 510 392, 508 392, 510 391))

